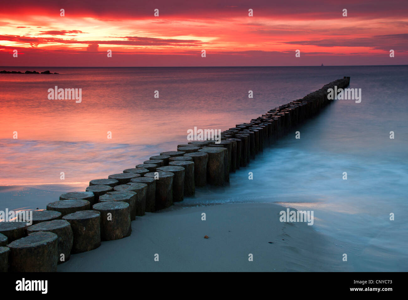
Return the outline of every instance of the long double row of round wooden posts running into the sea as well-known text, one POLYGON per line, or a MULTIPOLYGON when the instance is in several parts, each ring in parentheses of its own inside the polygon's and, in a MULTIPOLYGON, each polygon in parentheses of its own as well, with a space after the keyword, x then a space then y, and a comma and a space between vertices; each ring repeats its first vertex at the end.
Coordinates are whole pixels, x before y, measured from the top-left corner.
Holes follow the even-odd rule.
POLYGON ((0 222, 0 271, 57 271, 70 254, 91 251, 101 241, 131 235, 131 221, 145 211, 166 209, 193 196, 195 187, 224 186, 229 173, 248 166, 257 154, 333 100, 328 89, 344 89, 350 77, 335 80, 248 123, 235 124, 221 140, 191 141, 177 151, 154 154, 122 173, 89 182, 86 191, 64 193, 33 214, 33 225, 0 222))

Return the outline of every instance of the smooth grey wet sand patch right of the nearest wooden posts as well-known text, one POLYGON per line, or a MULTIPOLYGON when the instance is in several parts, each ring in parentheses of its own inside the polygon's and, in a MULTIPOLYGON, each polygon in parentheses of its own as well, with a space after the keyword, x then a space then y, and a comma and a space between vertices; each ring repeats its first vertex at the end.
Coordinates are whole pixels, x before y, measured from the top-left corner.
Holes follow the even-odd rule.
POLYGON ((131 236, 74 254, 58 271, 348 271, 341 248, 307 223, 279 222, 282 209, 270 203, 178 204, 136 217, 131 236))

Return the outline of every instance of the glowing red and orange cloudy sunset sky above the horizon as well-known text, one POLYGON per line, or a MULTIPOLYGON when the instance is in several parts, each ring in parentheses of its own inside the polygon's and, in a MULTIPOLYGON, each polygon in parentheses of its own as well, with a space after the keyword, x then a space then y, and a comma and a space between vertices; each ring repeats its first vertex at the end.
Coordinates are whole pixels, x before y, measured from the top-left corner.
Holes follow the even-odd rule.
POLYGON ((408 64, 406 0, 3 2, 2 66, 408 64))

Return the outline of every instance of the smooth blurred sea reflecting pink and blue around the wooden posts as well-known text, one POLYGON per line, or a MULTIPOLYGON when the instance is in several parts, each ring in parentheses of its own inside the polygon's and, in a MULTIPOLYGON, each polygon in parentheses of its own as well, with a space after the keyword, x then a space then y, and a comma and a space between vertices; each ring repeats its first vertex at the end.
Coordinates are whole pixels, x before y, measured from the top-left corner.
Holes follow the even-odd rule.
POLYGON ((47 191, 81 191, 91 179, 175 151, 188 129, 235 127, 350 76, 361 103, 336 100, 232 174, 229 187, 197 189, 180 205, 313 210, 313 228, 339 259, 348 254, 354 271, 408 271, 408 66, 0 69, 60 73, 0 74, 0 185, 24 185, 13 197, 0 193, 3 210, 44 208, 58 200, 47 191), (82 102, 48 100, 54 86, 82 89, 82 102))

